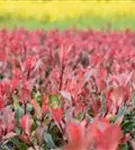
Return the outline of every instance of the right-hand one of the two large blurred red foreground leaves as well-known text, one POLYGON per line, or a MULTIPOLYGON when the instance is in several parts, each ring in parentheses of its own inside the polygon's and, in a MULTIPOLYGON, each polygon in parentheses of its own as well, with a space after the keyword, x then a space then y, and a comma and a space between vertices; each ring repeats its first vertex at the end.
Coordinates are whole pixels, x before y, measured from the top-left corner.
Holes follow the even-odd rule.
POLYGON ((93 122, 91 134, 95 140, 97 150, 116 150, 123 136, 119 125, 116 123, 110 124, 107 120, 93 122))

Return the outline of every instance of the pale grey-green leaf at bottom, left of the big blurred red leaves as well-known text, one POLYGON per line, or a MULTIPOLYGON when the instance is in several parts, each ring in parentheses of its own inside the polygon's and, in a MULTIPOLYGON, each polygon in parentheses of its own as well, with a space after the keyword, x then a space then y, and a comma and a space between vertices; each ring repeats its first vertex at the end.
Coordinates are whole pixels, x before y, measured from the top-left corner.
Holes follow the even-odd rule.
POLYGON ((44 133, 44 140, 45 140, 45 142, 49 148, 56 148, 56 145, 52 139, 51 134, 45 132, 44 133))

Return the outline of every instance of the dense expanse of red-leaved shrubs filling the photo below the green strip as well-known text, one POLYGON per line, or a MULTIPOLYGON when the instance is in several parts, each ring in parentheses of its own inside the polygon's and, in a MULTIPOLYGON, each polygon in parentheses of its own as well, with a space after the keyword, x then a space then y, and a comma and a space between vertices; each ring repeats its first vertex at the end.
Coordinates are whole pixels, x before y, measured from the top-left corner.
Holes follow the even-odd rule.
POLYGON ((135 149, 135 32, 0 31, 1 150, 135 149))

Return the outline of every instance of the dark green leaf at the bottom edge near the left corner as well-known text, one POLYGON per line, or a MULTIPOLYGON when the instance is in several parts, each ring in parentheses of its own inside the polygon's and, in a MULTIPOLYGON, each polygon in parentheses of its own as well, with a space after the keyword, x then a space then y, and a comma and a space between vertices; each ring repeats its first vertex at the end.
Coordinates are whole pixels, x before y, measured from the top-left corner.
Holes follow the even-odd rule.
POLYGON ((16 137, 10 139, 10 142, 12 142, 19 150, 27 150, 27 145, 19 141, 16 137))

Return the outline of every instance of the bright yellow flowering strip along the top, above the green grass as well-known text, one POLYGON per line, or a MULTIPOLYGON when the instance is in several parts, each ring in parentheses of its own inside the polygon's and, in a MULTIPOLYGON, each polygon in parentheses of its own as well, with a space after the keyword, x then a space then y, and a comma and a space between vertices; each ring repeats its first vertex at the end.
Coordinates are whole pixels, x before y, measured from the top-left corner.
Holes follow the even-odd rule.
POLYGON ((135 16, 135 2, 126 1, 0 1, 1 18, 56 21, 83 16, 101 18, 135 16))

